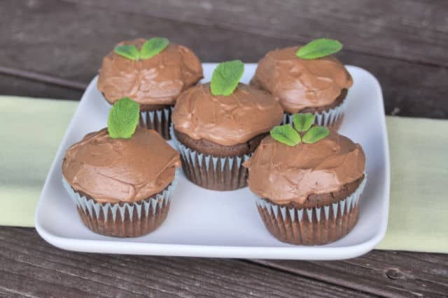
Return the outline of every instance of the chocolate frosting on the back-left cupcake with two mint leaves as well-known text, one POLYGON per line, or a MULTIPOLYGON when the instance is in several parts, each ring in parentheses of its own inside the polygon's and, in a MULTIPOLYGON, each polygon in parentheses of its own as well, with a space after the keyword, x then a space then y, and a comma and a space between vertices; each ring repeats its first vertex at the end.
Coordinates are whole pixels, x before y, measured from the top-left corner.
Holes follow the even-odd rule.
MULTIPOLYGON (((144 38, 118 45, 141 47, 144 38)), ((201 61, 183 45, 169 45, 154 57, 133 61, 111 51, 103 59, 97 87, 109 103, 125 96, 141 105, 174 105, 176 98, 202 79, 201 61)))

